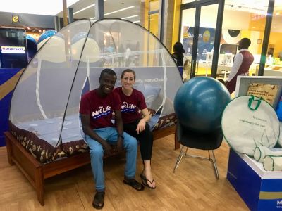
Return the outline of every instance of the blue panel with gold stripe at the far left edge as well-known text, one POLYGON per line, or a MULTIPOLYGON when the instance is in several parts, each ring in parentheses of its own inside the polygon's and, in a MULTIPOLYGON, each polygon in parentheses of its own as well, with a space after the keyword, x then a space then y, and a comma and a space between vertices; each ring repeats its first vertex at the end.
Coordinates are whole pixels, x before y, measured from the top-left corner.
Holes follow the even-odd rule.
MULTIPOLYGON (((2 90, 11 88, 7 87, 6 82, 14 77, 14 75, 16 75, 16 73, 18 73, 21 69, 22 68, 0 68, 0 147, 6 146, 4 132, 8 130, 8 114, 13 94, 12 89, 8 94, 2 96, 4 93, 2 90)), ((11 84, 9 86, 11 86, 11 84)))

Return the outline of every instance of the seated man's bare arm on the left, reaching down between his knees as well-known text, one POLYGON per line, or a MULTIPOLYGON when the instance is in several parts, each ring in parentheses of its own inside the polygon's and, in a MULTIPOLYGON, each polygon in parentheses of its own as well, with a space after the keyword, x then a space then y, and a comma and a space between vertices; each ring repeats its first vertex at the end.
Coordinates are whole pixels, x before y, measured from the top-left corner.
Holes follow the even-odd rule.
POLYGON ((81 118, 81 124, 82 124, 82 130, 85 134, 91 137, 91 139, 94 139, 95 141, 98 141, 101 143, 102 147, 104 148, 104 151, 107 155, 111 155, 111 146, 109 145, 106 140, 102 139, 97 133, 95 133, 92 128, 90 127, 90 116, 80 113, 81 118))

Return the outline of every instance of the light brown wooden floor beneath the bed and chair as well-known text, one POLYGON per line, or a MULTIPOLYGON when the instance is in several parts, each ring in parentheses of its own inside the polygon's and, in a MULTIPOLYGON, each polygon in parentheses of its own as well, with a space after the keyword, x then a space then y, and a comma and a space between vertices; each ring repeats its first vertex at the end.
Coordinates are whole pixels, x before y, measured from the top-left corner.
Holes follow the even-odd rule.
MULTIPOLYGON (((135 191, 123 184, 124 155, 104 161, 106 196, 103 210, 248 210, 226 179, 228 146, 215 151, 219 167, 216 180, 212 162, 183 158, 176 173, 173 167, 179 150, 174 151, 173 135, 154 141, 152 168, 157 188, 135 191)), ((206 155, 206 151, 191 150, 206 155)), ((140 181, 142 162, 137 160, 140 181)), ((45 181, 45 205, 16 166, 10 166, 6 147, 0 148, 0 210, 94 210, 94 182, 90 165, 45 181)))

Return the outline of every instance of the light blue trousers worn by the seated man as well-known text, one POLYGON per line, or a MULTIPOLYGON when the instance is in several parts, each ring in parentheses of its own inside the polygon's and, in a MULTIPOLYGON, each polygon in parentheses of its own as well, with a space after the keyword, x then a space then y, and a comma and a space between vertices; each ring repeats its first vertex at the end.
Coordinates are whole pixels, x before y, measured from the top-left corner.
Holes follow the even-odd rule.
MULTIPOLYGON (((104 127, 93 130, 102 139, 105 139, 110 144, 116 144, 118 140, 118 133, 115 127, 104 127)), ((126 150, 126 164, 124 175, 128 179, 135 178, 136 172, 136 157, 137 157, 137 140, 133 136, 123 132, 123 148, 126 150)), ((98 141, 91 139, 90 136, 85 135, 85 141, 90 148, 91 167, 94 175, 96 191, 104 191, 104 170, 103 170, 103 156, 104 149, 98 141)))

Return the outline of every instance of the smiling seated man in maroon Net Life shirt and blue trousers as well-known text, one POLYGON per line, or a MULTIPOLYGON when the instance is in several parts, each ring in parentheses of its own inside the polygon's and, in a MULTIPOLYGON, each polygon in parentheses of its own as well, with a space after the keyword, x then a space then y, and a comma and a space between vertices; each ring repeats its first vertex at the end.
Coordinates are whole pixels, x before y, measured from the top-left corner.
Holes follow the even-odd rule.
POLYGON ((135 180, 137 140, 123 132, 121 119, 121 100, 113 92, 116 83, 116 73, 111 69, 104 69, 99 77, 99 88, 88 91, 80 101, 80 117, 85 141, 90 147, 92 173, 94 175, 96 194, 93 207, 102 209, 104 206, 104 171, 103 156, 111 155, 111 145, 116 144, 118 151, 126 150, 126 164, 124 172, 125 184, 143 191, 144 186, 135 180), (111 122, 115 113, 114 125, 111 122))

